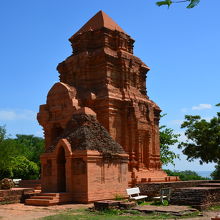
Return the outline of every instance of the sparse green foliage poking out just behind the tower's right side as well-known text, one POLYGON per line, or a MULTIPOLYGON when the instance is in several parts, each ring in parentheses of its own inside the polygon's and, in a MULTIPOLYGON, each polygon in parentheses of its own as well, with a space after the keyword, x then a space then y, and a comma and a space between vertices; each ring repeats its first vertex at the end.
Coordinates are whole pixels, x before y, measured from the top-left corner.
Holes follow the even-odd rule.
MULTIPOLYGON (((164 115, 161 115, 163 117, 164 115)), ((169 163, 174 164, 174 159, 179 158, 179 155, 170 150, 170 147, 178 143, 179 134, 174 134, 173 129, 167 126, 160 126, 160 159, 163 165, 169 163)))

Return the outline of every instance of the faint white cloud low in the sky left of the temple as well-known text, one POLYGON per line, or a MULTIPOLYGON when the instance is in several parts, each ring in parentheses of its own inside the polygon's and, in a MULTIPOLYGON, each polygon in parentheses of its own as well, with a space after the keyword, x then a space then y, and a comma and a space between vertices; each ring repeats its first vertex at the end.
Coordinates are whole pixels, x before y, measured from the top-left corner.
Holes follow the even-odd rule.
POLYGON ((36 112, 32 110, 0 110, 0 120, 36 120, 36 112))

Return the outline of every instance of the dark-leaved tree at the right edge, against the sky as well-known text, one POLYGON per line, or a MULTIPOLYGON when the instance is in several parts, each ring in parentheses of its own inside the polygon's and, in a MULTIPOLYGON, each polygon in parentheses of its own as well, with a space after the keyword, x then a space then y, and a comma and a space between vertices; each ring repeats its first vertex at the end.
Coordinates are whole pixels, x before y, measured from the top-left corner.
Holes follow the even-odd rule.
POLYGON ((200 159, 201 164, 220 162, 220 112, 210 121, 199 115, 186 115, 181 128, 186 129, 187 140, 181 142, 179 148, 183 148, 187 160, 200 159))

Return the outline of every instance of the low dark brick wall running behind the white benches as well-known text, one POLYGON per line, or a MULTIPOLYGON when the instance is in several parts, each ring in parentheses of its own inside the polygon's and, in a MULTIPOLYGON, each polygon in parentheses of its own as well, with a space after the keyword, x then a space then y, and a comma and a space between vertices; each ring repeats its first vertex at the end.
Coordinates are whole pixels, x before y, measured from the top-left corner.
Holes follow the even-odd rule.
POLYGON ((158 196, 161 188, 172 188, 173 190, 178 188, 195 187, 203 183, 210 183, 210 180, 193 180, 193 181, 176 181, 176 182, 151 182, 151 183, 139 183, 136 184, 142 194, 146 194, 149 197, 158 196))

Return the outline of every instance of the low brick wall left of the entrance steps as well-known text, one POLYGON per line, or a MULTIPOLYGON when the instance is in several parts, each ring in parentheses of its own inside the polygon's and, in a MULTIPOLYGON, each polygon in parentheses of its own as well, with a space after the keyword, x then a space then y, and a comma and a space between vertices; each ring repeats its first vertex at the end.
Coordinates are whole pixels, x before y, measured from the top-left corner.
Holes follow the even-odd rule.
POLYGON ((0 190, 0 204, 20 203, 23 202, 28 195, 33 193, 33 189, 12 188, 8 190, 0 190))

